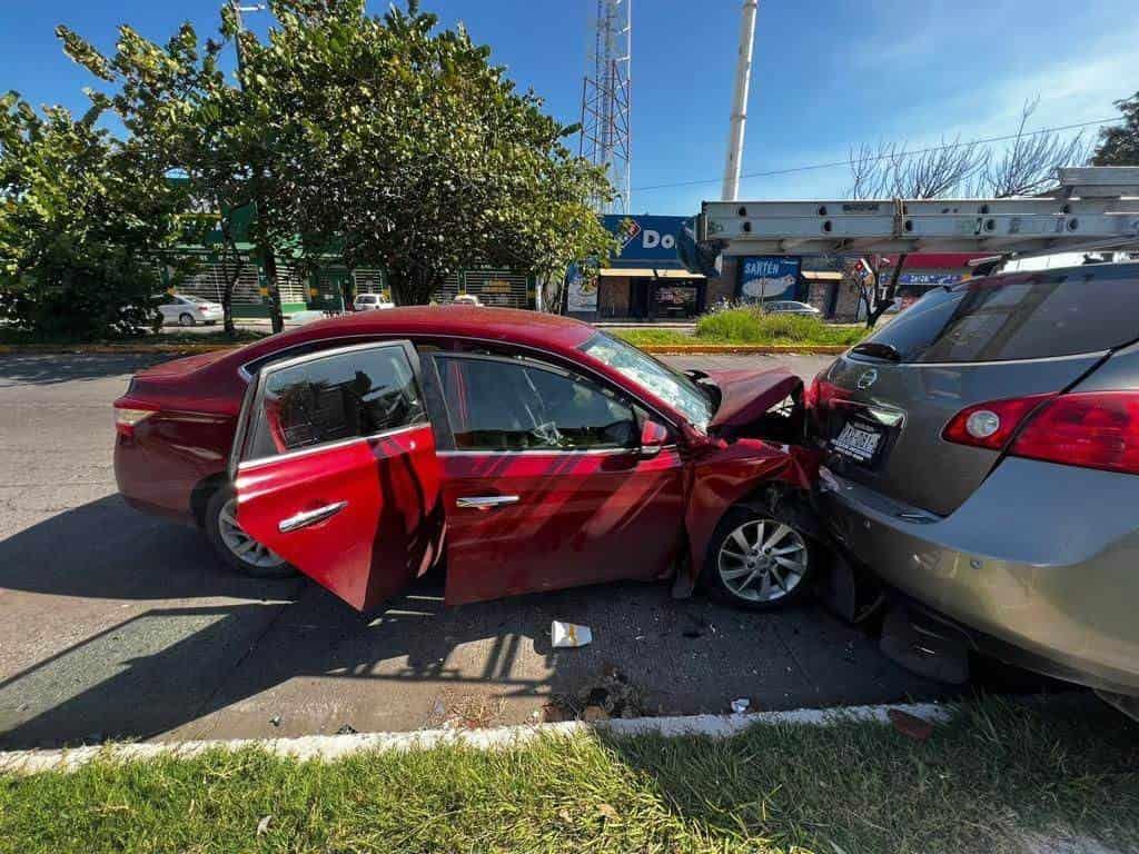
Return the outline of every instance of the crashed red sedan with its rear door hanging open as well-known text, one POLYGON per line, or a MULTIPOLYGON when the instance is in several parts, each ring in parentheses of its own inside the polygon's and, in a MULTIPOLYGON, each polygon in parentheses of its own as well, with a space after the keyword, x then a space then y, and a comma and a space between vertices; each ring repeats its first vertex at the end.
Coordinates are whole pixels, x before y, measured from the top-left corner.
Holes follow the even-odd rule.
POLYGON ((361 610, 440 563, 452 605, 672 578, 763 609, 818 563, 801 397, 781 368, 681 373, 566 318, 367 312, 138 373, 115 474, 233 567, 361 610))

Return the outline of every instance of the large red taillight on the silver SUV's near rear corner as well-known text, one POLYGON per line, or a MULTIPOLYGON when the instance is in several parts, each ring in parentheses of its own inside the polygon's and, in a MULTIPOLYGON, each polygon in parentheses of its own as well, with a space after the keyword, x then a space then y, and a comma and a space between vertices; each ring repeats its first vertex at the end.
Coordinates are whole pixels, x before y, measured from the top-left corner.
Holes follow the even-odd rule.
POLYGON ((1139 392, 1079 392, 989 401, 953 416, 942 437, 1067 466, 1139 474, 1139 392), (1022 427, 1023 425, 1023 427, 1022 427))

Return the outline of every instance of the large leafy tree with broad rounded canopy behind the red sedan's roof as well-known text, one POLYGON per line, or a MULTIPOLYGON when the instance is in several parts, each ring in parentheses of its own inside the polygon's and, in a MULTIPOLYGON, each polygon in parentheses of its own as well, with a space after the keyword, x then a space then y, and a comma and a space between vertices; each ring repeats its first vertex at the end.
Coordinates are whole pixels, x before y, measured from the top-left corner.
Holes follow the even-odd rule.
POLYGON ((613 236, 588 204, 612 190, 564 139, 576 128, 521 93, 490 49, 418 5, 273 5, 245 54, 251 85, 295 153, 287 194, 303 254, 337 235, 349 266, 384 268, 398 303, 425 303, 478 263, 562 276, 613 236), (316 243, 313 243, 316 241, 316 243))

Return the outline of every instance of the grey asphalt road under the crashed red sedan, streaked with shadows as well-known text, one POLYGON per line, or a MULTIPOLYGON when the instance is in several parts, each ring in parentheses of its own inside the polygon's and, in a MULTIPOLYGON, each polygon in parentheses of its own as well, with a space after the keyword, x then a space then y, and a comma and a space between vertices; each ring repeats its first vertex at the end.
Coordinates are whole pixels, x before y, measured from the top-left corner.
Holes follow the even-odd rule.
MULTIPOLYGON (((806 377, 826 362, 784 361, 806 377)), ((0 356, 0 747, 524 722, 609 667, 648 713, 943 692, 813 605, 754 615, 616 584, 446 609, 426 578, 361 616, 303 578, 235 575, 196 531, 115 494, 109 404, 146 363, 0 356), (593 643, 551 649, 554 618, 593 643)))

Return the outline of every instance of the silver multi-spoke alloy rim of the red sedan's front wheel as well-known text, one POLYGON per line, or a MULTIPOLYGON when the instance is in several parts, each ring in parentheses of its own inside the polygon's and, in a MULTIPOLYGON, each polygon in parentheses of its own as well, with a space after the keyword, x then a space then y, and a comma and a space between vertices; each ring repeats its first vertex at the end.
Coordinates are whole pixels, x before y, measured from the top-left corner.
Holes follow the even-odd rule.
POLYGON ((716 569, 728 591, 753 602, 782 599, 806 574, 803 536, 777 519, 748 519, 720 545, 716 569))

